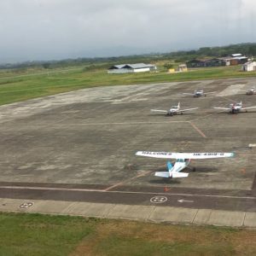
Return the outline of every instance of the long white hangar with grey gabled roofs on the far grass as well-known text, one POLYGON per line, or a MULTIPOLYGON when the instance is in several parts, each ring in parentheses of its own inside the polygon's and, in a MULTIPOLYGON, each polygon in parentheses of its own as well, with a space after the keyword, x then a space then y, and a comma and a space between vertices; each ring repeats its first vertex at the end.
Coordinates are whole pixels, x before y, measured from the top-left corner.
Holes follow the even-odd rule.
POLYGON ((156 66, 152 64, 121 64, 114 65, 108 68, 108 73, 140 73, 140 72, 150 72, 155 71, 156 66))

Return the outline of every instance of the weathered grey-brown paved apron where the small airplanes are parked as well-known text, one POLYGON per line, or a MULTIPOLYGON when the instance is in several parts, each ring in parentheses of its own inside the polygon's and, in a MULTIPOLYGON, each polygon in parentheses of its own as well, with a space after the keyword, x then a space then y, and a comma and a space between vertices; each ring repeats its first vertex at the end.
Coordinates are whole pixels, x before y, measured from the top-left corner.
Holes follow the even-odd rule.
POLYGON ((254 96, 240 92, 255 82, 109 86, 2 106, 0 198, 253 214, 256 111, 236 115, 212 107, 240 100, 255 106, 254 96), (182 95, 196 89, 217 92, 200 98, 182 95), (177 102, 199 109, 172 117, 149 111, 177 102), (166 180, 154 177, 166 170, 166 162, 137 157, 137 150, 233 151, 236 157, 195 160, 196 172, 189 177, 166 180))

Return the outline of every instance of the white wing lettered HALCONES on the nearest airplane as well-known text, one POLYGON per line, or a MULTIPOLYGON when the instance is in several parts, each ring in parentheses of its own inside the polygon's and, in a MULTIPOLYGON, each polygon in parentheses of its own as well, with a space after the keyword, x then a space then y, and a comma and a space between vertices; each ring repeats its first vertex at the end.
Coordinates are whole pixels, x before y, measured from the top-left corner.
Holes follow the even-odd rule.
POLYGON ((234 153, 171 153, 171 152, 150 152, 150 151, 137 151, 136 155, 148 156, 163 159, 208 159, 208 158, 221 158, 233 157, 234 153))

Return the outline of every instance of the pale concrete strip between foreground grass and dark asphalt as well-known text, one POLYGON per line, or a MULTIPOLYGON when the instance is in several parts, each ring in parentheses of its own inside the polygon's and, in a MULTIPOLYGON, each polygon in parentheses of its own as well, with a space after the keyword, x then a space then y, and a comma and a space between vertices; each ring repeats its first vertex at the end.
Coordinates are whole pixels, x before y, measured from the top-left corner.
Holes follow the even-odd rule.
POLYGON ((155 223, 256 228, 256 212, 230 212, 182 207, 132 206, 71 201, 0 199, 0 212, 30 212, 96 218, 122 218, 155 223))

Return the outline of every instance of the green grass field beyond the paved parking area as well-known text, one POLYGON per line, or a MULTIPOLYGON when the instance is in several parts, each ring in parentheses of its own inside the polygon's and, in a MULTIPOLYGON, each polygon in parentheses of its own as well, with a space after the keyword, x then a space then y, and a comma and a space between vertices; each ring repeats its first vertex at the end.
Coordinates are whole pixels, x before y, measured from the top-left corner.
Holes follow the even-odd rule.
POLYGON ((20 71, 20 73, 5 70, 0 72, 0 105, 95 86, 256 76, 255 72, 243 73, 240 69, 241 67, 238 66, 208 67, 188 73, 172 74, 166 72, 107 74, 106 70, 84 71, 81 67, 66 71, 49 70, 44 73, 35 70, 20 71))

